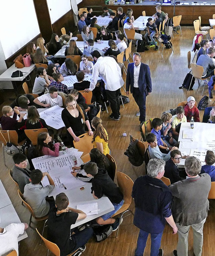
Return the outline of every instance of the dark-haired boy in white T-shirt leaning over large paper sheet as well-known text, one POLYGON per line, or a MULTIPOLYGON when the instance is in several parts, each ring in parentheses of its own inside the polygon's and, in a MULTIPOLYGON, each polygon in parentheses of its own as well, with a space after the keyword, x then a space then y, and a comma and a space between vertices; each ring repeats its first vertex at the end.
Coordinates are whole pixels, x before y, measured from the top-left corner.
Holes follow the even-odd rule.
POLYGON ((34 99, 34 103, 44 106, 45 108, 51 108, 52 106, 63 105, 63 100, 60 95, 57 94, 58 90, 56 87, 51 86, 49 87, 49 93, 43 94, 36 99, 34 99), (43 103, 44 102, 44 103, 43 103))

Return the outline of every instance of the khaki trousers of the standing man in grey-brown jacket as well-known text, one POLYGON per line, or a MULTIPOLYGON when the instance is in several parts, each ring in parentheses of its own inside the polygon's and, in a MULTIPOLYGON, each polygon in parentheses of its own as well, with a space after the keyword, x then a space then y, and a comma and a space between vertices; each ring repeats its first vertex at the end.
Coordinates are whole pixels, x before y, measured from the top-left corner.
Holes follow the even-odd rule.
MULTIPOLYGON (((206 218, 197 224, 192 224, 193 231, 193 251, 196 256, 202 255, 202 246, 203 246, 203 226, 206 221, 206 218)), ((179 223, 176 223, 178 228, 178 246, 177 254, 178 256, 188 256, 188 233, 190 226, 180 226, 179 223)))

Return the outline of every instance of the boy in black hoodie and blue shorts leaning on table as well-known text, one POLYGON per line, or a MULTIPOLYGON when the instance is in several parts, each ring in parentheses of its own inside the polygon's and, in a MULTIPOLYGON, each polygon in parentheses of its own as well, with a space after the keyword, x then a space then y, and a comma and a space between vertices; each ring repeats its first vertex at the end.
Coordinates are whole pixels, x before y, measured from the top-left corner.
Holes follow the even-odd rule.
MULTIPOLYGON (((113 182, 107 171, 98 169, 96 163, 89 162, 84 165, 84 171, 88 177, 93 177, 91 193, 95 199, 101 198, 103 195, 109 198, 114 206, 114 210, 106 213, 96 219, 99 225, 111 224, 113 231, 117 230, 120 225, 120 218, 111 218, 123 205, 124 199, 119 187, 113 182)), ((122 222, 122 219, 121 219, 122 222)))

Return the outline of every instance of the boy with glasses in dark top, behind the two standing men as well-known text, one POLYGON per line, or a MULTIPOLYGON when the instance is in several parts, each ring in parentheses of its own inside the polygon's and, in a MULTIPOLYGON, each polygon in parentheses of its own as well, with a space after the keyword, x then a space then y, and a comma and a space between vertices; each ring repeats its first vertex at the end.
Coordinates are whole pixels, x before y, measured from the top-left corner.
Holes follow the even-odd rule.
POLYGON ((170 152, 170 159, 166 162, 165 165, 164 177, 170 179, 171 184, 186 178, 185 171, 180 171, 177 167, 182 158, 185 159, 187 156, 182 157, 179 150, 173 150, 170 152))

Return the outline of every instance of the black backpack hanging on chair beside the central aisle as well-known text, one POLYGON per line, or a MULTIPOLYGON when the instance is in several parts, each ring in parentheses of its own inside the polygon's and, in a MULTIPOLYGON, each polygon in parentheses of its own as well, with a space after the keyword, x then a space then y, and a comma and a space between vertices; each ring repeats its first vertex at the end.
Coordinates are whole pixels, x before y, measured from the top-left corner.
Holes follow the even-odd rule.
POLYGON ((132 136, 130 135, 130 143, 128 145, 128 149, 126 152, 124 152, 124 155, 128 157, 128 161, 134 166, 140 166, 144 162, 144 158, 137 148, 137 142, 138 139, 133 141, 132 136))

